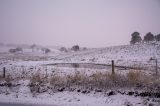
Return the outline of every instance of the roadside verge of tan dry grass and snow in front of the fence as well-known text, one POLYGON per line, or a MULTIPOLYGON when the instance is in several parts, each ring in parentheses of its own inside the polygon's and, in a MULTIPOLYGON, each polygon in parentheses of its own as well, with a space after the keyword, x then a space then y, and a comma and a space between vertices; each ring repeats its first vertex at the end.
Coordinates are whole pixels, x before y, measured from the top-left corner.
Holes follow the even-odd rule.
POLYGON ((154 77, 139 71, 125 75, 108 72, 87 75, 77 71, 71 75, 34 73, 19 79, 10 76, 0 80, 0 102, 60 106, 158 106, 159 102, 153 102, 154 97, 148 97, 153 92, 159 92, 160 78, 154 77), (136 94, 136 91, 143 93, 136 94))

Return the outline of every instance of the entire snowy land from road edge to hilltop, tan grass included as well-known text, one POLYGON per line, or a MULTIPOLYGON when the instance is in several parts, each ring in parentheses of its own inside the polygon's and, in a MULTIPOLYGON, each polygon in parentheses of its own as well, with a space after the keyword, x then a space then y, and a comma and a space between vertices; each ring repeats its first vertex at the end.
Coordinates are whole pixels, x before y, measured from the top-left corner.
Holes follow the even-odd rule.
MULTIPOLYGON (((155 61, 150 61, 150 58, 155 56, 159 66, 159 51, 160 44, 137 44, 69 53, 55 52, 48 55, 25 51, 19 54, 2 52, 0 53, 0 70, 2 70, 0 102, 27 101, 26 103, 47 104, 51 101, 49 103, 64 106, 149 105, 143 103, 144 98, 140 96, 152 99, 150 95, 160 91, 160 76, 153 75, 155 61), (110 73, 111 67, 96 69, 92 66, 81 67, 75 64, 110 65, 111 60, 114 60, 117 66, 135 69, 115 67, 113 75, 110 73), (72 63, 72 65, 70 67, 48 65, 54 63, 72 63), (6 68, 6 78, 2 78, 3 67, 6 68), (117 93, 119 91, 121 92, 117 93), (136 94, 136 91, 144 93, 136 94)), ((157 106, 159 105, 158 103, 157 106)))

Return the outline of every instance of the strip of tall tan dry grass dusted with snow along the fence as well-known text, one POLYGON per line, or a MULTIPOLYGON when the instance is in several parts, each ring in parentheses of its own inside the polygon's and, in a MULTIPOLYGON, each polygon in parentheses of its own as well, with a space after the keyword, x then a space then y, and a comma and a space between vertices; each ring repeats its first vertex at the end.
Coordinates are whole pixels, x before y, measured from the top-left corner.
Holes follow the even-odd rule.
POLYGON ((124 74, 111 74, 108 72, 95 72, 87 75, 85 72, 75 72, 72 75, 53 74, 46 76, 36 73, 30 78, 30 90, 33 93, 46 92, 52 89, 53 92, 85 90, 108 91, 110 89, 140 89, 155 90, 160 87, 160 77, 146 75, 139 71, 130 71, 124 74))

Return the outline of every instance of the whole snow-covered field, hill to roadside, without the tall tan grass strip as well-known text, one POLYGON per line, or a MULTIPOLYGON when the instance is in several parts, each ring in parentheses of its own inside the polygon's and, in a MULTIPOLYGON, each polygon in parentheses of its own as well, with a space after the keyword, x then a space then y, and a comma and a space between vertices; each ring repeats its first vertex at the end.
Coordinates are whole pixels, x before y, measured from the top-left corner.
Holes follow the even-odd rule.
MULTIPOLYGON (((142 73, 152 75, 155 73, 155 61, 150 58, 160 60, 160 44, 136 44, 107 48, 95 48, 81 50, 78 52, 60 52, 52 49, 51 53, 33 52, 25 49, 23 53, 8 53, 10 47, 0 47, 0 75, 3 75, 5 67, 6 76, 11 76, 15 81, 15 87, 3 85, 4 79, 0 78, 0 102, 14 103, 34 103, 34 104, 55 104, 56 106, 159 106, 159 98, 141 97, 136 95, 121 94, 117 91, 108 96, 110 91, 89 93, 77 91, 63 92, 43 92, 36 96, 30 91, 29 78, 41 73, 44 75, 72 75, 75 72, 85 72, 92 75, 96 72, 111 72, 111 67, 107 68, 85 68, 52 65, 54 63, 95 63, 111 64, 115 61, 117 66, 125 66, 133 69, 116 68, 115 72, 124 74, 129 71, 138 70, 142 73), (134 69, 135 68, 135 69, 134 69)), ((71 64, 72 65, 72 64, 71 64)), ((158 67, 159 69, 160 67, 158 67)), ((131 90, 131 89, 128 89, 131 90)), ((123 90, 124 91, 124 90, 123 90)))

